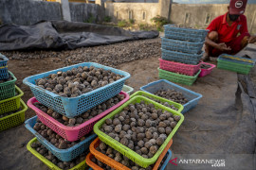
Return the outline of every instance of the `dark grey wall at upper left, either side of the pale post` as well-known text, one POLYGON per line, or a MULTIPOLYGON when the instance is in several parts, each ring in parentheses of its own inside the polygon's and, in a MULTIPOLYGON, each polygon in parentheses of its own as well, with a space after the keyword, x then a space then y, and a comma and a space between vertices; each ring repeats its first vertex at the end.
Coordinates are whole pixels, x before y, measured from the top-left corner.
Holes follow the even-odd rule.
MULTIPOLYGON (((69 3, 69 6, 71 21, 84 22, 90 17, 90 14, 99 18, 99 5, 69 3)), ((0 0, 2 24, 31 25, 41 20, 63 20, 61 4, 33 0, 0 0)))

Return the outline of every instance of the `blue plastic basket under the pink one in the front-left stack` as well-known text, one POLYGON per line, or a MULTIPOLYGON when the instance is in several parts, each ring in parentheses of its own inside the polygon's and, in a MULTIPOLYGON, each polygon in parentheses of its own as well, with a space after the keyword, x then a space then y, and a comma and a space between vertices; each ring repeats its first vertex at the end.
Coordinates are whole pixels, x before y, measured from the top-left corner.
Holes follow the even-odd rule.
POLYGON ((48 142, 36 130, 34 130, 33 127, 36 124, 36 119, 37 119, 37 116, 27 119, 27 121, 25 122, 25 127, 27 127, 27 129, 36 136, 37 140, 41 144, 45 145, 46 148, 61 161, 74 160, 79 155, 81 155, 82 152, 89 149, 90 144, 97 137, 96 134, 92 134, 89 137, 87 137, 85 140, 80 142, 79 144, 75 144, 72 147, 67 148, 67 149, 59 149, 59 148, 55 147, 53 144, 51 144, 50 142, 48 142))

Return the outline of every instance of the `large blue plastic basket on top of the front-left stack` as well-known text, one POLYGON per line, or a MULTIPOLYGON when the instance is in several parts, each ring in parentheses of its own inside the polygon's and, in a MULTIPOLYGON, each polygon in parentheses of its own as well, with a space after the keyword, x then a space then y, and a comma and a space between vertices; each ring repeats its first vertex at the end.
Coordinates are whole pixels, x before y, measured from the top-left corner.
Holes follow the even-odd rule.
POLYGON ((23 83, 30 87, 32 93, 40 103, 69 118, 73 118, 75 116, 82 114, 86 110, 90 110, 95 106, 101 104, 102 102, 108 100, 109 98, 119 94, 121 92, 125 80, 129 77, 130 74, 127 72, 123 72, 118 69, 107 67, 94 62, 84 62, 35 76, 28 76, 23 80, 23 83), (104 70, 111 70, 115 74, 119 74, 124 77, 89 93, 82 93, 82 95, 77 97, 63 97, 59 94, 51 93, 35 85, 35 80, 38 78, 46 77, 50 74, 56 74, 59 71, 65 72, 67 70, 77 68, 80 66, 94 66, 96 68, 103 68, 104 70))

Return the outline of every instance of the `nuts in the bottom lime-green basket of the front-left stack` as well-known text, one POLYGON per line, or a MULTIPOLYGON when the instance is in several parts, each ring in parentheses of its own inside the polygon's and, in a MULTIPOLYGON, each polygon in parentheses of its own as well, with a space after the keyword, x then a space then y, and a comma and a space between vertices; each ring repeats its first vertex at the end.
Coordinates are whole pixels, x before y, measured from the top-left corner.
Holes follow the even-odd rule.
POLYGON ((47 150, 43 144, 39 142, 32 143, 31 147, 34 148, 42 156, 46 157, 48 161, 51 161, 53 164, 57 165, 61 169, 71 169, 80 162, 85 161, 86 153, 82 153, 73 161, 60 161, 49 150, 47 150))

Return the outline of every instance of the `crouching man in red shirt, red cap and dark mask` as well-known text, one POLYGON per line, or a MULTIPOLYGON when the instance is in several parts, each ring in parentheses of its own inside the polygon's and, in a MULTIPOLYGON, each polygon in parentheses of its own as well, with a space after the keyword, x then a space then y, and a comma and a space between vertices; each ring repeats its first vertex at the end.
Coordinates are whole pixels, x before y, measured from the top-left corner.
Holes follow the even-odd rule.
POLYGON ((236 54, 247 43, 256 42, 256 36, 250 36, 247 29, 247 17, 243 15, 247 0, 230 0, 228 12, 211 21, 207 27, 209 34, 205 42, 203 60, 219 55, 236 54))

